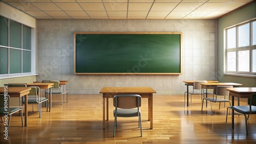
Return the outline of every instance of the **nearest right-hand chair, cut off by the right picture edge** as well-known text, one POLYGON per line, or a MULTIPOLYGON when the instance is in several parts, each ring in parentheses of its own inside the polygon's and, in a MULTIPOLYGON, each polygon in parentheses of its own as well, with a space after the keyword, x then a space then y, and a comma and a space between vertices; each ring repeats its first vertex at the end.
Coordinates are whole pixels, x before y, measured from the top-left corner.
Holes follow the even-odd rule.
MULTIPOLYGON (((248 135, 247 120, 249 119, 250 114, 256 114, 256 93, 251 94, 249 106, 230 106, 228 108, 233 109, 234 111, 244 115, 246 135, 248 135), (246 114, 248 114, 248 117, 246 117, 246 114)), ((227 108, 227 113, 228 113, 228 108, 227 108)), ((226 123, 227 123, 227 115, 226 115, 226 123)))

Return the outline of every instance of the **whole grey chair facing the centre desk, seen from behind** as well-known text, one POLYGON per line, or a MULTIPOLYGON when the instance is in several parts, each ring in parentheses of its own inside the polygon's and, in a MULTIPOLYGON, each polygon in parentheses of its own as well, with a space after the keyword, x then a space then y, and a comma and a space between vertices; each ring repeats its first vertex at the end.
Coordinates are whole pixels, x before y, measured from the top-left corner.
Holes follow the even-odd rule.
POLYGON ((115 137, 117 117, 139 117, 140 136, 142 136, 141 128, 141 113, 139 107, 141 106, 141 96, 138 94, 117 94, 113 99, 113 111, 115 122, 114 122, 114 133, 115 137))

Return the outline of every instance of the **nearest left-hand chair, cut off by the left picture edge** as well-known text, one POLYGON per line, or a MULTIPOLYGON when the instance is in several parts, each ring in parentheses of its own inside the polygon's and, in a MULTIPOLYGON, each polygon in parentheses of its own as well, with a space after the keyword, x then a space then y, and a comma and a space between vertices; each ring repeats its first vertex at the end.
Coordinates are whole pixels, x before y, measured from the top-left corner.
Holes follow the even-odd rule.
MULTIPOLYGON (((8 120, 8 126, 7 126, 7 130, 9 131, 9 127, 10 127, 10 122, 11 122, 11 117, 12 114, 15 112, 20 111, 21 113, 21 117, 22 117, 22 127, 23 127, 23 112, 22 112, 22 108, 19 107, 10 107, 10 96, 8 94, 0 94, 0 117, 3 121, 3 117, 7 118, 7 115, 9 116, 9 120, 8 120)), ((6 125, 5 125, 6 126, 6 125)))

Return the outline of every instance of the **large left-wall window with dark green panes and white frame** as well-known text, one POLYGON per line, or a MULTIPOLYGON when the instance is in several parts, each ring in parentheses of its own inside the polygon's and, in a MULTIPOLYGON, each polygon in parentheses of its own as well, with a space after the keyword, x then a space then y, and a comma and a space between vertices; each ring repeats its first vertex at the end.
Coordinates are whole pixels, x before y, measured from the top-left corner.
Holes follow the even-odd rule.
POLYGON ((31 74, 31 28, 0 16, 0 76, 31 74))

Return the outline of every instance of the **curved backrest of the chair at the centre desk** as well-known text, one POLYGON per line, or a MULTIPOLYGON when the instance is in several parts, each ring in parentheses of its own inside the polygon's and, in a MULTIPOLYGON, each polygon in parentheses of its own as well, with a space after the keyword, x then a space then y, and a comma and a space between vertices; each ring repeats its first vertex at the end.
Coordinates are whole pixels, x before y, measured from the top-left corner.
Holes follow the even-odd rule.
POLYGON ((139 94, 117 94, 113 98, 113 106, 122 109, 139 108, 141 97, 139 94))

